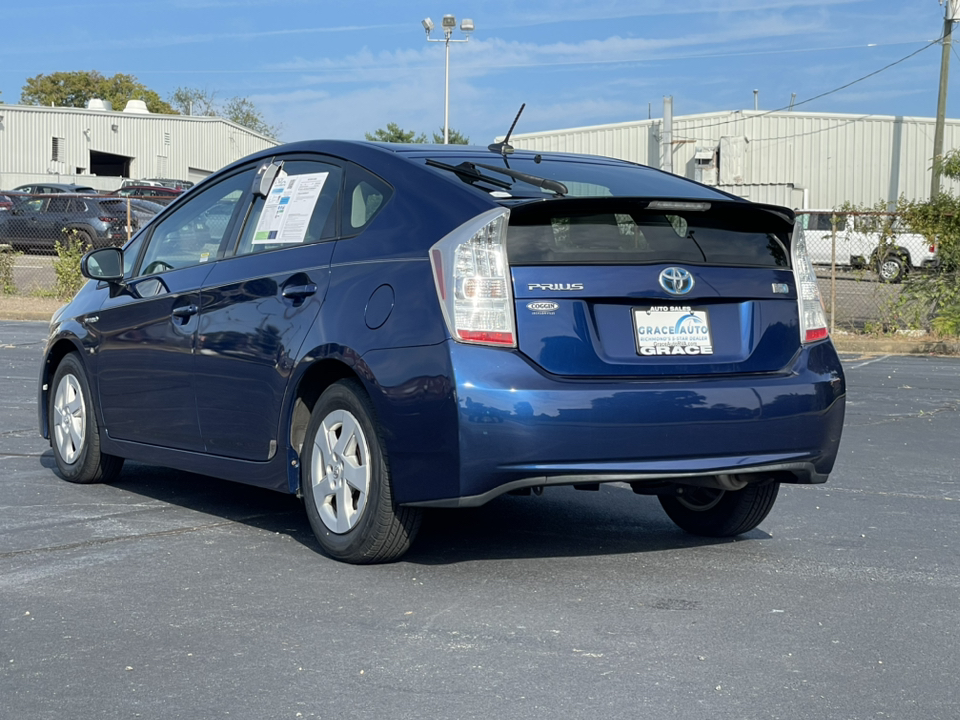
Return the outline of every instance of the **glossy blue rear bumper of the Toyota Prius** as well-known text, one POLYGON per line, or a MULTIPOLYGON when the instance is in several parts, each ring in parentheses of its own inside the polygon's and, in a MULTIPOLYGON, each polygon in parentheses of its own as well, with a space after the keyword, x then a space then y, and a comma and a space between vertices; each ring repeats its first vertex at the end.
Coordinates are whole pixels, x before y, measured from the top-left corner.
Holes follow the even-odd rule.
POLYGON ((833 345, 804 348, 777 375, 566 380, 522 355, 449 343, 459 434, 457 497, 478 505, 531 485, 675 481, 778 473, 824 482, 843 426, 833 345))

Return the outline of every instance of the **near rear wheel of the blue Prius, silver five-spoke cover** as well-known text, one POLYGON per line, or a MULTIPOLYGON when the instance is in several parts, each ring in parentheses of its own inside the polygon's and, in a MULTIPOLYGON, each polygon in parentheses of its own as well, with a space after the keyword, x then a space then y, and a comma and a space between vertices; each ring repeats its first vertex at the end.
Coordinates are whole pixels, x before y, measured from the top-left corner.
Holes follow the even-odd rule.
POLYGON ((363 387, 341 380, 320 396, 301 453, 301 491, 324 553, 353 564, 392 562, 420 528, 419 508, 397 507, 376 413, 363 387))

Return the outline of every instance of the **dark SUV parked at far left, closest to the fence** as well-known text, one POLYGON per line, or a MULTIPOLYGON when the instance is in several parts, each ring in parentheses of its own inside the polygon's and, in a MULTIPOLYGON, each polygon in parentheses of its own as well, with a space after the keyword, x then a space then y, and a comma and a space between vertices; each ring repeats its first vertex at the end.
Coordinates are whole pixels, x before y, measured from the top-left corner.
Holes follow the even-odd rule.
MULTIPOLYGON (((131 218, 133 229, 140 226, 131 218)), ((49 252, 58 240, 89 247, 122 245, 127 238, 126 202, 120 198, 35 195, 0 215, 0 242, 26 252, 49 252)))

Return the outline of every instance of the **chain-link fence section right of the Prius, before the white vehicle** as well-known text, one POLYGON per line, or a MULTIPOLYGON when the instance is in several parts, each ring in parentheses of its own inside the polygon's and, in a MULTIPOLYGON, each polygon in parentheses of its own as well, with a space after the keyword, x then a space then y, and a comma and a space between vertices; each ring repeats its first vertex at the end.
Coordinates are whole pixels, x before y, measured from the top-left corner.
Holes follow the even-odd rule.
POLYGON ((911 315, 904 282, 936 269, 936 246, 896 213, 798 213, 832 330, 904 329, 911 315))

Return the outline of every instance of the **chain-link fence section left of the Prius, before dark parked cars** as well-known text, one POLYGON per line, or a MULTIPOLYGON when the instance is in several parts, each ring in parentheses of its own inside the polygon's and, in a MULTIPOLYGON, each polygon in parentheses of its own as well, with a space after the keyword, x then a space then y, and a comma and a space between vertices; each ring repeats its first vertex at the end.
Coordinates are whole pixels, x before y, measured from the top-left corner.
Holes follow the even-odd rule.
POLYGON ((166 202, 119 195, 0 192, 0 294, 56 295, 61 255, 66 252, 65 259, 72 260, 84 249, 122 245, 166 202))

